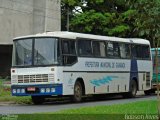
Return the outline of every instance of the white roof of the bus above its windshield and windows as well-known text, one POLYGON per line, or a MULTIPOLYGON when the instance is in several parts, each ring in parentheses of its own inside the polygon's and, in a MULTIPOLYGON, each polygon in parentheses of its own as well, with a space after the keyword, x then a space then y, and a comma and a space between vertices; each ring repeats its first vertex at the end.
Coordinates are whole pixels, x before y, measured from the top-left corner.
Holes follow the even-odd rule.
POLYGON ((119 37, 100 36, 100 35, 68 32, 68 31, 44 32, 44 33, 39 33, 35 35, 17 37, 14 40, 22 39, 22 38, 30 38, 30 37, 58 37, 58 38, 67 38, 67 39, 85 38, 85 39, 108 40, 108 41, 137 43, 137 44, 150 44, 149 41, 145 39, 119 38, 119 37))

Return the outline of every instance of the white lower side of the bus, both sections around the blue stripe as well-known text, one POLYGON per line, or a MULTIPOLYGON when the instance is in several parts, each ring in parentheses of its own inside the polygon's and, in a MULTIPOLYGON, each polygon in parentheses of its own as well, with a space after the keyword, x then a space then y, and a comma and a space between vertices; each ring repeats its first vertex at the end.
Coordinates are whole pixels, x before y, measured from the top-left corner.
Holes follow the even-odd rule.
MULTIPOLYGON (((78 61, 72 67, 64 68, 64 86, 66 85, 64 88, 69 88, 64 91, 65 95, 73 94, 74 84, 78 78, 84 80, 86 94, 129 91, 131 60, 79 58, 78 61)), ((148 90, 150 86, 146 87, 146 73, 149 72, 151 81, 152 67, 148 66, 151 66, 152 62, 140 60, 137 64, 138 88, 148 90)))

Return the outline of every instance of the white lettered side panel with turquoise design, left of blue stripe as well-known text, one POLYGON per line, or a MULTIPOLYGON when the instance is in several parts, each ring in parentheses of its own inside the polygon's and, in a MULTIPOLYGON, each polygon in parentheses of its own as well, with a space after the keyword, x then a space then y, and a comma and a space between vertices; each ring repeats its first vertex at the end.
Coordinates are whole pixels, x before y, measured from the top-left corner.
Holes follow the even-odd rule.
MULTIPOLYGON (((122 90, 121 92, 124 92, 123 87, 125 88, 125 85, 122 87, 122 83, 129 83, 129 71, 130 60, 79 58, 78 63, 72 67, 64 67, 64 79, 68 78, 68 80, 65 80, 64 85, 72 83, 68 86, 72 88, 69 90, 72 92, 70 94, 73 94, 76 80, 82 78, 85 83, 86 94, 114 93, 120 92, 120 89, 122 90)), ((67 93, 68 91, 64 92, 67 93)))

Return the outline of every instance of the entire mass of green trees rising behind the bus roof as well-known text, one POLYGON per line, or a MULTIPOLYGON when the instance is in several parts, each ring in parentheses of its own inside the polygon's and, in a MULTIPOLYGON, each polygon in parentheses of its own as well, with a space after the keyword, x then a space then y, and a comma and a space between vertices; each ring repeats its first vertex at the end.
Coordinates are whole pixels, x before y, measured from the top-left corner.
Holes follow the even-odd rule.
POLYGON ((70 9, 71 31, 139 37, 151 43, 160 38, 159 0, 87 0, 85 5, 84 0, 62 1, 70 9))

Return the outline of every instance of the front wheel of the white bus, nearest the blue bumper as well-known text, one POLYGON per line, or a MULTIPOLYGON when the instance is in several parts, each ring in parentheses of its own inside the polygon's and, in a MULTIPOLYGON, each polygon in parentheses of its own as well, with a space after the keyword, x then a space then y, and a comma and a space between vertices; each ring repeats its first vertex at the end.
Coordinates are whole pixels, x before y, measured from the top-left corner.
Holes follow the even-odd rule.
POLYGON ((74 102, 82 101, 82 85, 79 81, 76 81, 74 86, 74 95, 72 96, 74 102))

